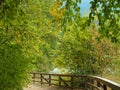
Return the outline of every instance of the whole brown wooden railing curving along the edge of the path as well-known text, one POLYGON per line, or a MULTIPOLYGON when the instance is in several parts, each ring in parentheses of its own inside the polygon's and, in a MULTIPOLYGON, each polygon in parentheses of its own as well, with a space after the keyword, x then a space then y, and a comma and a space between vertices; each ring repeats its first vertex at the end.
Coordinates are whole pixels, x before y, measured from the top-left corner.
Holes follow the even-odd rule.
POLYGON ((58 85, 68 88, 80 88, 83 90, 120 90, 120 84, 97 76, 69 75, 69 74, 47 74, 32 72, 33 83, 41 85, 58 85))

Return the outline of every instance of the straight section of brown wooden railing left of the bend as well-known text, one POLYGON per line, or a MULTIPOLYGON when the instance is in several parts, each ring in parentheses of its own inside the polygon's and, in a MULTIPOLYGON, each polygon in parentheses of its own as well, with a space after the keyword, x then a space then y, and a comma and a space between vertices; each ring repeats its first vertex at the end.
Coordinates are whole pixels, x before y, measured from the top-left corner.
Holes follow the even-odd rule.
POLYGON ((68 88, 85 88, 86 86, 86 77, 84 75, 70 75, 70 74, 48 74, 48 73, 40 73, 34 72, 32 74, 33 83, 40 82, 43 85, 58 85, 68 88), (82 86, 81 86, 82 85, 82 86))

